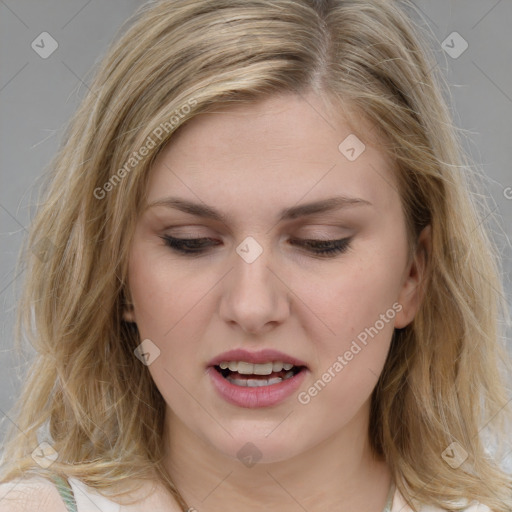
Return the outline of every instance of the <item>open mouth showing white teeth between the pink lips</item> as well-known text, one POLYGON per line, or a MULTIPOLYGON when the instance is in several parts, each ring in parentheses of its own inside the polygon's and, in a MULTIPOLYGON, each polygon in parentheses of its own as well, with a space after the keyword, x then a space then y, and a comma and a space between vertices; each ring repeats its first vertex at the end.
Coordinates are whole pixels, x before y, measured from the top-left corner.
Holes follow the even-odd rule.
POLYGON ((307 369, 304 365, 294 365, 282 361, 269 361, 262 364, 223 361, 214 365, 213 368, 231 384, 248 388, 280 384, 307 369))

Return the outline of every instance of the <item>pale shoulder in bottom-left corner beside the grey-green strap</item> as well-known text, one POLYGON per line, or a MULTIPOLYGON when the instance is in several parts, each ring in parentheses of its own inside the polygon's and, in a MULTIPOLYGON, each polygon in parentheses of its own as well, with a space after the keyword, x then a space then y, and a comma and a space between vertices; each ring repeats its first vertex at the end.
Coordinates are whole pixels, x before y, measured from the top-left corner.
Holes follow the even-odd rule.
POLYGON ((59 491, 49 480, 31 476, 0 483, 0 512, 67 512, 59 491))

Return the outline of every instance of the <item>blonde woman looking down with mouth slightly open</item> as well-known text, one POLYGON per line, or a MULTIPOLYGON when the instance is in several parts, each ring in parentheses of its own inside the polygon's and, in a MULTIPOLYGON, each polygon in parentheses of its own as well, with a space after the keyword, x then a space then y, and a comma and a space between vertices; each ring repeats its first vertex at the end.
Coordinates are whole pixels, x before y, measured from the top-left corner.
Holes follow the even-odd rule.
POLYGON ((0 510, 511 509, 496 257, 433 68, 388 0, 139 9, 32 226, 0 510))

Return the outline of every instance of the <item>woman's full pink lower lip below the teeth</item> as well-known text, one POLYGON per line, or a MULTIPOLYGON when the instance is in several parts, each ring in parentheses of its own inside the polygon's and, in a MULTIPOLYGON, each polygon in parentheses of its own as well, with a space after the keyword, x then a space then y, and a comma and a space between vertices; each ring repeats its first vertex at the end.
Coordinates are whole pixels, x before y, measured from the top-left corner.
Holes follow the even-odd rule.
POLYGON ((269 407, 282 402, 292 395, 302 384, 306 377, 306 372, 307 370, 303 369, 297 373, 297 375, 283 380, 278 384, 249 388, 231 384, 231 382, 225 379, 213 366, 207 369, 213 387, 226 402, 248 409, 269 407))

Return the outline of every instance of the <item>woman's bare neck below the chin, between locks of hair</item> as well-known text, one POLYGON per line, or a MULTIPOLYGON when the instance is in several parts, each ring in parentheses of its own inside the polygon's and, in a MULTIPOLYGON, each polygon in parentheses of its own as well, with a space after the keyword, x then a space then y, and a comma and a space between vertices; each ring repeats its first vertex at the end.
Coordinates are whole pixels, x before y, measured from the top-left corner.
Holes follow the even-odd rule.
POLYGON ((308 451, 248 467, 206 443, 168 409, 166 469, 188 506, 201 512, 381 512, 391 474, 361 429, 368 412, 365 404, 341 432, 308 451))

